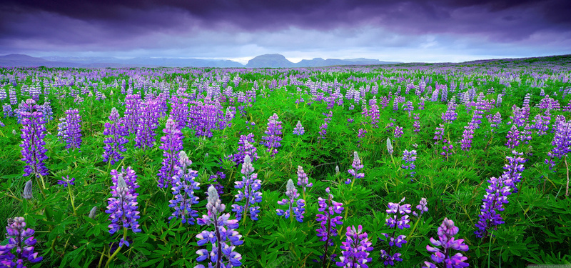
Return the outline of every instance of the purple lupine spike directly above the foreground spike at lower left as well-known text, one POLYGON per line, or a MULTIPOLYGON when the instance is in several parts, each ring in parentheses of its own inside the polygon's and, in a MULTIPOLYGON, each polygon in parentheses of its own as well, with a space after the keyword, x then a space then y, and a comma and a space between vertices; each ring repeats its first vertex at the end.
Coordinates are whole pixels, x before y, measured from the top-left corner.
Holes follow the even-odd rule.
POLYGON ((109 120, 111 123, 105 123, 105 130, 103 130, 103 135, 107 136, 103 142, 105 146, 105 152, 103 152, 103 162, 111 162, 115 164, 123 159, 122 152, 126 152, 127 149, 125 145, 129 142, 124 136, 128 135, 128 130, 126 126, 121 121, 119 117, 119 112, 115 107, 111 109, 111 114, 109 115, 109 120))

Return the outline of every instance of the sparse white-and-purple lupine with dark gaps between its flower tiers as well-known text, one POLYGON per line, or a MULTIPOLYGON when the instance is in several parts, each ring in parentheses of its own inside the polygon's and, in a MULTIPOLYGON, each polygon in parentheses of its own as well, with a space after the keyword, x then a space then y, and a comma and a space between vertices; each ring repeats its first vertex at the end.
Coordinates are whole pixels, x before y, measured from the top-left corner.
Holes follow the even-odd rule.
MULTIPOLYGON (((385 264, 385 266, 386 265, 394 266, 395 262, 403 262, 403 259, 400 258, 400 255, 402 254, 398 252, 392 255, 390 254, 391 253, 390 251, 391 249, 393 249, 393 247, 399 247, 399 248, 403 247, 402 244, 405 244, 407 242, 405 240, 406 238, 405 235, 401 234, 396 236, 397 228, 401 230, 405 228, 410 228, 410 225, 408 224, 410 222, 410 219, 408 219, 409 218, 408 214, 411 212, 410 209, 411 206, 410 204, 401 205, 400 203, 402 202, 405 202, 404 197, 398 203, 388 203, 388 209, 387 209, 388 217, 387 219, 385 219, 385 222, 389 228, 393 229, 393 234, 383 233, 383 236, 385 236, 389 245, 388 251, 385 251, 385 249, 380 250, 380 257, 384 259, 383 263, 385 264)), ((379 237, 379 239, 381 238, 379 237)))

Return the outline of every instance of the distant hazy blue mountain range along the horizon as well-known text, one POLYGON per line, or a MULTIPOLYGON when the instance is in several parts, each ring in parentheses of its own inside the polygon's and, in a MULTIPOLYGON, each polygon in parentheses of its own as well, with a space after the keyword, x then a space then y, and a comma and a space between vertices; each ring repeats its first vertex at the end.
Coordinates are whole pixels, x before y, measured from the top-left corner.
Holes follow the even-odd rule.
POLYGON ((183 59, 183 58, 133 58, 117 59, 112 57, 33 57, 23 54, 0 56, 0 66, 4 67, 76 67, 76 68, 126 68, 126 67, 218 67, 218 68, 295 68, 323 67, 333 65, 377 65, 397 64, 395 61, 378 59, 304 59, 293 63, 281 54, 256 56, 244 66, 237 61, 221 59, 183 59))

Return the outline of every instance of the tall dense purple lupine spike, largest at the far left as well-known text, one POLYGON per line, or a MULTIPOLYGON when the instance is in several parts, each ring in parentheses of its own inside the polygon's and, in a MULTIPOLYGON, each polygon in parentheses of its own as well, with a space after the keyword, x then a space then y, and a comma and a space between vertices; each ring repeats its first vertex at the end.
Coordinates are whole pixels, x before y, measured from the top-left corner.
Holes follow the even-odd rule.
POLYGON ((46 169, 46 164, 44 163, 44 160, 48 159, 46 157, 48 150, 44 148, 44 145, 46 145, 46 142, 44 142, 46 126, 44 126, 44 115, 38 110, 39 106, 36 105, 36 101, 27 99, 24 103, 24 111, 19 113, 23 117, 22 144, 20 144, 22 148, 21 160, 27 164, 24 167, 24 177, 32 174, 36 177, 48 174, 48 169, 46 169))

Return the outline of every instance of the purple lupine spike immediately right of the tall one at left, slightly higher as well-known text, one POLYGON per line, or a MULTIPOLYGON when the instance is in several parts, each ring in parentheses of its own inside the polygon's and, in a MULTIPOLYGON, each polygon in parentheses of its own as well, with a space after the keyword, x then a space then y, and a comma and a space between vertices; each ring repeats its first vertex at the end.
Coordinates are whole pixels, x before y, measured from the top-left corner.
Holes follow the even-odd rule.
POLYGON ((135 147, 153 147, 155 142, 156 129, 158 127, 158 105, 157 101, 151 99, 145 101, 138 111, 138 121, 136 125, 135 147))

